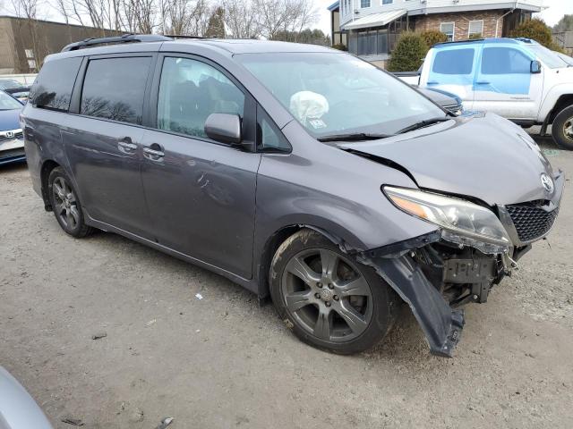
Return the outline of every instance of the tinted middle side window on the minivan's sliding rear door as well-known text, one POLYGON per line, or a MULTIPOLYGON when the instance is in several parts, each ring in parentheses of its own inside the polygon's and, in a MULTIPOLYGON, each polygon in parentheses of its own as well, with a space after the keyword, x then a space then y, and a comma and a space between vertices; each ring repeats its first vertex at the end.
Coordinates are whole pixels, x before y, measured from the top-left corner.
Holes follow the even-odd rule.
POLYGON ((150 63, 149 56, 90 60, 80 113, 141 125, 150 63))

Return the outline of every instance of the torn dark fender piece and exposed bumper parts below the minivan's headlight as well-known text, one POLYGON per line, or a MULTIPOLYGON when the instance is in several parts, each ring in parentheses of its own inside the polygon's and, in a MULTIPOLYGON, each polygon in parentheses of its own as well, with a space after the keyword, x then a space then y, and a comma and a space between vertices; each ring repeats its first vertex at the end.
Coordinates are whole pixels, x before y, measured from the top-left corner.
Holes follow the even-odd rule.
MULTIPOLYGON (((528 248, 513 256, 521 257, 528 248)), ((363 252, 360 261, 372 266, 408 304, 430 351, 441 357, 452 357, 461 338, 464 311, 457 307, 486 302, 492 285, 510 273, 504 255, 460 247, 444 240, 440 230, 363 252)))

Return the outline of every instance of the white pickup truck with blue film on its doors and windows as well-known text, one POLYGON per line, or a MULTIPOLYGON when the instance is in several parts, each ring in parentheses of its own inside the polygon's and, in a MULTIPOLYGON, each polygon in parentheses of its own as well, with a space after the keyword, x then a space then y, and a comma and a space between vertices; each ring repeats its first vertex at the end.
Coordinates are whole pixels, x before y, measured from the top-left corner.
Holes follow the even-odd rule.
MULTIPOLYGON (((412 76, 402 78, 415 83, 412 76)), ((500 114, 524 127, 542 125, 542 135, 552 125, 557 145, 573 150, 573 66, 533 40, 440 43, 426 55, 418 83, 457 95, 466 110, 500 114)))

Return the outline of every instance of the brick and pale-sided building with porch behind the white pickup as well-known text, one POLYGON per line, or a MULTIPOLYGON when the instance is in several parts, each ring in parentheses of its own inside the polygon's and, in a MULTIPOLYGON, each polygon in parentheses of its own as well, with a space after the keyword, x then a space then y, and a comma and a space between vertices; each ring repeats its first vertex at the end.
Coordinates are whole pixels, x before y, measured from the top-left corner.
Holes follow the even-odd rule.
POLYGON ((449 40, 500 38, 541 10, 543 0, 338 0, 329 6, 333 43, 382 66, 406 29, 435 29, 449 40))

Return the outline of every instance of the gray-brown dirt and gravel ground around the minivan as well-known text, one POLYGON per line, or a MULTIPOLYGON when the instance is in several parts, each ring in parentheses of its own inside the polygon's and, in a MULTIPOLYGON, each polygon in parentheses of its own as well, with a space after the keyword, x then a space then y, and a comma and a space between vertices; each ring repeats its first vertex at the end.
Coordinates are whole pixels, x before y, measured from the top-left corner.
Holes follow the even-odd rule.
MULTIPOLYGON (((573 153, 546 154, 573 172, 573 153)), ((0 365, 56 428, 573 427, 569 183, 549 240, 466 307, 451 359, 407 307, 368 353, 312 349, 216 274, 114 234, 66 236, 25 166, 0 168, 0 195, 0 365)))

